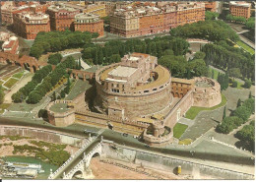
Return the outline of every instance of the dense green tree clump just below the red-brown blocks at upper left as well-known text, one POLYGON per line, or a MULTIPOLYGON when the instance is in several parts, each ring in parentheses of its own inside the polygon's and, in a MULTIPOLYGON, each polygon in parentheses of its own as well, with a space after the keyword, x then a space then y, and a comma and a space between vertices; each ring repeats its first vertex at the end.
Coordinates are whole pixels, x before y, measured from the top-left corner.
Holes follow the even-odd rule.
POLYGON ((40 31, 34 39, 30 55, 38 59, 41 54, 47 52, 83 47, 85 44, 90 44, 92 38, 97 36, 98 33, 89 31, 40 31))

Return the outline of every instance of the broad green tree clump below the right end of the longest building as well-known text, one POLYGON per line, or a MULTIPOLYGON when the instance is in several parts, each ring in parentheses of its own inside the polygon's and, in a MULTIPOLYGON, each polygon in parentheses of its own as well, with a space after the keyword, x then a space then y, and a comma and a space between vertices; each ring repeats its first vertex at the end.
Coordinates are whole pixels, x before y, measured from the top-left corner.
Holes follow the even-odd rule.
POLYGON ((229 38, 233 41, 239 39, 236 32, 223 21, 212 20, 179 26, 170 30, 170 34, 174 37, 180 36, 184 38, 202 38, 211 41, 220 41, 226 38, 229 38))

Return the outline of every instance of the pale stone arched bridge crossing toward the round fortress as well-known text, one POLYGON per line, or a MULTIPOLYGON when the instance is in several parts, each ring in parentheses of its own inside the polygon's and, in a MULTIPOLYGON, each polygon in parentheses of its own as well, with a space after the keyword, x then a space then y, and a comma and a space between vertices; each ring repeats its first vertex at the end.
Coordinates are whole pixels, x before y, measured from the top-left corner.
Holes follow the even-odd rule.
POLYGON ((85 145, 60 166, 54 173, 51 172, 48 179, 72 179, 74 176, 81 175, 82 178, 92 174, 90 162, 92 157, 101 155, 103 136, 98 139, 104 130, 101 129, 96 137, 91 137, 85 142, 85 145))

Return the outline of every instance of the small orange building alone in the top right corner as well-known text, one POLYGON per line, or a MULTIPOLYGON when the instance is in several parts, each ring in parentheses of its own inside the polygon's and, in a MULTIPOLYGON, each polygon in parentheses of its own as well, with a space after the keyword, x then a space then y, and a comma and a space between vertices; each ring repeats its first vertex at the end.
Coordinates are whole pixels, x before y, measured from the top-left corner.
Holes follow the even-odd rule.
POLYGON ((229 2, 229 13, 235 17, 244 17, 249 19, 251 17, 251 4, 246 2, 229 2))

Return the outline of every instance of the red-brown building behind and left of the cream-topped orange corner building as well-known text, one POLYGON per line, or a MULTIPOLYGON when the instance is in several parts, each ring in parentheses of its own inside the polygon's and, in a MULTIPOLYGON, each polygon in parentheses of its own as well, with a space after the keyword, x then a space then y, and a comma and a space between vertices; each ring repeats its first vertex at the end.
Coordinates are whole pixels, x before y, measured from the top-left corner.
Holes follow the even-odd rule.
POLYGON ((49 6, 46 13, 50 18, 51 30, 73 30, 75 16, 80 10, 66 7, 64 4, 56 4, 49 6))

